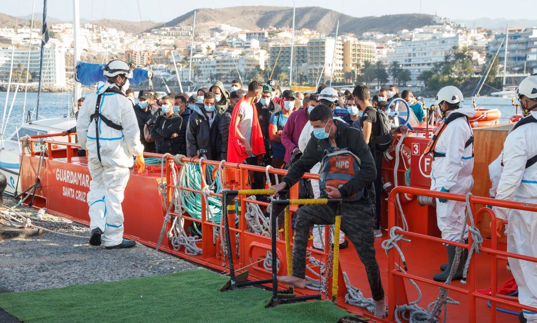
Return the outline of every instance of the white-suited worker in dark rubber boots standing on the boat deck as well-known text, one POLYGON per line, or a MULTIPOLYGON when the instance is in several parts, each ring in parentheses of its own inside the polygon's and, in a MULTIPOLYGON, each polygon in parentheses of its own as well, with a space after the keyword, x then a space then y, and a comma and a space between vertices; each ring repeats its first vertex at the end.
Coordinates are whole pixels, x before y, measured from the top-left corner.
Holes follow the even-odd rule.
MULTIPOLYGON (((475 115, 471 107, 461 106, 464 100, 462 92, 455 86, 440 89, 436 104, 440 108, 444 121, 433 136, 427 152, 434 156, 431 172, 431 190, 467 194, 474 185, 471 176, 474 170, 474 133, 468 118, 475 115)), ((466 203, 447 199, 438 199, 436 205, 438 229, 442 239, 458 240, 465 223, 466 203)), ((468 237, 468 231, 465 238, 468 237)), ((435 281, 446 281, 455 258, 455 246, 447 245, 447 265, 440 267, 442 273, 433 276, 435 281)), ((461 253, 459 268, 453 280, 462 278, 462 269, 466 262, 466 249, 461 253)))

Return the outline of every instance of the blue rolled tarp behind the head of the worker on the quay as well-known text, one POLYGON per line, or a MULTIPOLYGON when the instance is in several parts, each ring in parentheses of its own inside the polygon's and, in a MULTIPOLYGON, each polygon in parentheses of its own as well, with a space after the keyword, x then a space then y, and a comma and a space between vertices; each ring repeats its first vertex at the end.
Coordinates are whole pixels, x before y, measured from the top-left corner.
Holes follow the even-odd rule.
MULTIPOLYGON (((106 64, 86 63, 79 61, 75 68, 75 80, 84 86, 92 86, 98 82, 106 82, 106 77, 103 75, 103 69, 106 64)), ((136 85, 146 82, 150 78, 149 70, 135 68, 133 77, 129 78, 129 83, 136 85)))

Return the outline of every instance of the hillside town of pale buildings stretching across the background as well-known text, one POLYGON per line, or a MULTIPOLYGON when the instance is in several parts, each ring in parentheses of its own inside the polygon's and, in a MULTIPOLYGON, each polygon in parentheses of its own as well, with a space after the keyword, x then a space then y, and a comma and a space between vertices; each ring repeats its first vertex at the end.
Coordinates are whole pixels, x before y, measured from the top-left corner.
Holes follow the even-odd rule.
MULTIPOLYGON (((288 84, 289 76, 293 85, 366 82, 380 86, 391 82, 424 86, 427 71, 434 71, 454 54, 468 61, 463 73, 480 76, 505 38, 505 31, 469 28, 438 16, 433 21, 434 25, 393 34, 365 32, 338 34, 337 38, 334 33, 307 29, 293 34, 291 28, 242 30, 224 24, 210 33, 194 30, 194 35, 191 26, 129 33, 85 23, 79 32, 79 48, 84 61, 106 63, 114 57, 125 58, 139 67, 150 67, 157 84, 173 87, 178 82, 209 84, 222 79, 278 79, 288 84)), ((43 85, 65 87, 72 82, 74 68, 72 24, 56 23, 49 31, 43 85)), ((35 82, 39 78, 39 45, 40 30, 35 26, 32 30, 0 28, 0 83, 7 82, 11 68, 23 75, 28 54, 28 81, 35 82)), ((508 47, 507 73, 537 72, 537 27, 510 28, 508 47)), ((501 73, 505 56, 497 59, 501 73)), ((20 78, 12 82, 25 82, 20 78)))

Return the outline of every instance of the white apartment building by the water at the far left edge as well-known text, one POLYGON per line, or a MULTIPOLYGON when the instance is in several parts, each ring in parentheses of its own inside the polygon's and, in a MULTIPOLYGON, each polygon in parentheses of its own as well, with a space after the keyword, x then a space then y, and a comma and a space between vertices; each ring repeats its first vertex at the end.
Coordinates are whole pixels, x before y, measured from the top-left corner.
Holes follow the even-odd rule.
MULTIPOLYGON (((11 50, 12 47, 0 48, 0 82, 9 81, 9 72, 11 67, 11 50)), ((49 42, 43 52, 43 82, 45 85, 65 86, 66 85, 66 58, 65 48, 56 46, 54 42, 49 42)), ((32 75, 30 82, 39 80, 39 62, 41 49, 34 47, 30 50, 30 67, 28 70, 32 75)), ((16 47, 13 55, 13 69, 19 64, 26 69, 28 61, 28 48, 16 47)), ((12 78, 11 82, 17 82, 18 79, 12 78)), ((21 79, 25 82, 25 78, 21 79)))

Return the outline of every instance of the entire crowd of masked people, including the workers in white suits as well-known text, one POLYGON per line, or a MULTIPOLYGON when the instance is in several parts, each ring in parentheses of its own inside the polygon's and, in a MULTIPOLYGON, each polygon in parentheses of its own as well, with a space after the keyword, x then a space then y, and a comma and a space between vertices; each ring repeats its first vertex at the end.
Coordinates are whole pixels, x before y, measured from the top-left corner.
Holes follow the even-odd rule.
MULTIPOLYGON (((366 268, 375 315, 380 318, 386 315, 374 248, 374 237, 382 237, 382 157, 393 134, 409 129, 406 125, 393 127, 386 112, 408 106, 410 126, 429 122, 430 114, 425 113, 411 91, 399 93, 398 87, 391 85, 372 95, 366 85, 342 92, 322 84, 315 92, 302 93, 281 91, 275 80, 266 83, 254 80, 246 87, 240 80, 234 80, 229 90, 222 82, 216 82, 211 87, 201 87, 192 96, 175 92, 162 96, 142 90, 135 100, 134 92, 125 89, 127 78, 132 76, 125 62, 109 62, 104 75, 108 81, 96 93, 90 93, 88 100, 78 101, 77 129, 68 130, 78 131, 79 143, 89 153, 91 245, 100 245, 101 236, 106 248, 135 245, 133 240, 122 239, 121 210, 132 156, 136 156, 139 172, 143 171, 143 152, 286 168, 287 175, 272 186, 274 194, 301 182, 299 193, 303 198, 343 199, 342 231, 352 241, 366 268), (390 104, 394 98, 401 98, 407 104, 390 104), (91 126, 93 122, 95 127, 91 126), (337 187, 323 183, 321 188, 318 181, 302 179, 305 172, 320 172, 321 162, 331 149, 345 150, 356 157, 360 161, 359 172, 337 187)), ((537 77, 526 78, 517 94, 525 118, 510 131, 502 154, 489 167, 491 195, 501 200, 535 203, 537 77)), ((475 111, 461 106, 462 101, 463 94, 455 86, 444 87, 436 96, 437 115, 432 114, 431 118, 441 118, 444 122, 437 127, 426 150, 434 156, 431 190, 467 194, 473 186, 474 137, 468 118, 475 111)), ((265 175, 252 172, 250 183, 253 189, 265 188, 265 175)), ((465 203, 437 200, 442 238, 458 239, 466 225, 465 203)), ((304 287, 310 228, 333 224, 335 212, 330 205, 306 205, 297 211, 293 274, 279 277, 280 281, 304 287)), ((521 210, 507 212, 502 208, 495 208, 495 212, 499 219, 509 219, 508 251, 535 256, 536 244, 527 238, 535 236, 535 214, 521 210)), ((314 247, 322 249, 320 241, 324 234, 320 230, 313 230, 313 234, 314 247)), ((346 247, 344 234, 338 242, 341 248, 346 247)), ((465 249, 459 267, 451 270, 455 247, 448 245, 448 262, 441 266, 442 272, 434 275, 434 280, 446 281, 449 275, 453 280, 461 279, 466 257, 465 249)), ((520 303, 536 306, 535 265, 513 258, 509 258, 509 263, 519 284, 520 303)), ((535 313, 524 312, 523 316, 528 321, 537 320, 535 313)))

